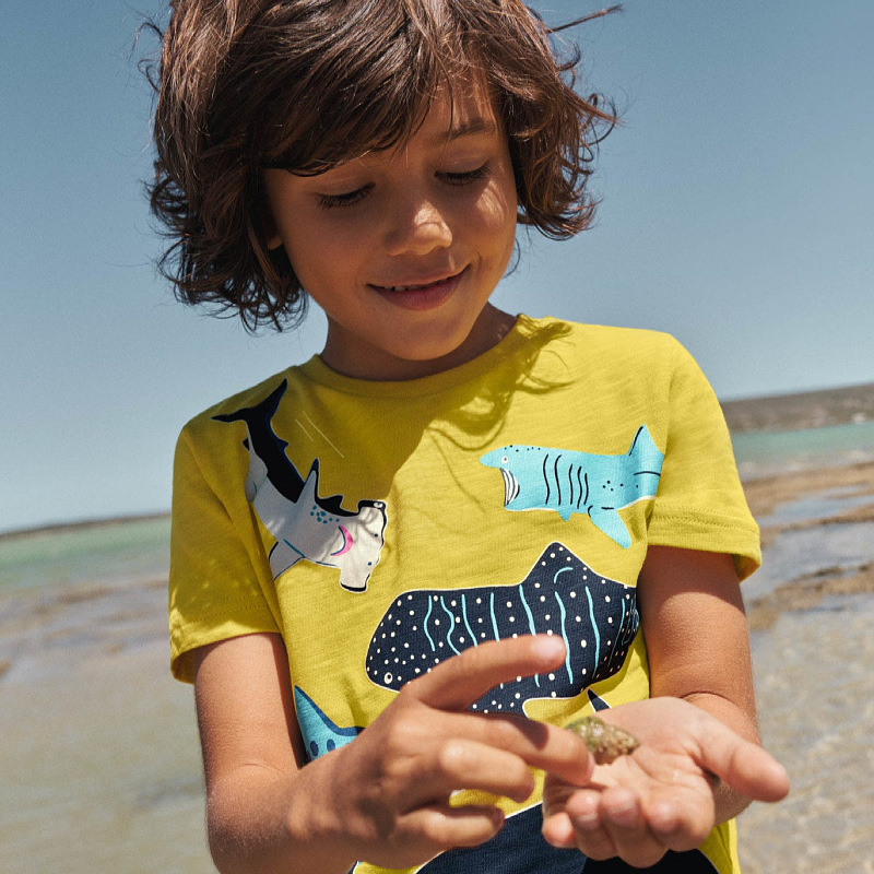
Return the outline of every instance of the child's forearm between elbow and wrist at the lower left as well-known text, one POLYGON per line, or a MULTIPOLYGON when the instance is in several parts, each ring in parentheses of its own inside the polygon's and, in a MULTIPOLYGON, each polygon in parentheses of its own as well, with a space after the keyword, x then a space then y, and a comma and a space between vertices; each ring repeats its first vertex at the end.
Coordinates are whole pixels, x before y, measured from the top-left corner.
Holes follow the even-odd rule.
POLYGON ((328 758, 293 775, 244 766, 210 788, 210 850, 222 874, 346 874, 355 853, 319 804, 328 758))

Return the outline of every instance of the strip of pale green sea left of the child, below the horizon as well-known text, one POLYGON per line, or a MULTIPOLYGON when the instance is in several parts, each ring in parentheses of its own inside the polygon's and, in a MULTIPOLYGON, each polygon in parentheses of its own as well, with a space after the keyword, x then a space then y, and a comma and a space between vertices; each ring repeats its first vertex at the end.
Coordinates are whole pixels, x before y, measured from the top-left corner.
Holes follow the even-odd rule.
POLYGON ((169 542, 166 517, 2 538, 0 590, 166 577, 169 542))

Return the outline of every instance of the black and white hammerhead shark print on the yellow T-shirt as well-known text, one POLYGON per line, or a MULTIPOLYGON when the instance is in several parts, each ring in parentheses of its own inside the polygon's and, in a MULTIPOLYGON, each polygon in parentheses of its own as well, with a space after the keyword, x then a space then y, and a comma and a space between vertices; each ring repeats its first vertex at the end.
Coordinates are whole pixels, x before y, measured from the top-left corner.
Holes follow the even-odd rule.
POLYGON ((275 538, 270 551, 273 579, 298 562, 340 570, 340 584, 363 592, 382 551, 386 505, 359 500, 357 510, 343 507, 343 496, 319 496, 319 460, 304 480, 285 454, 288 444, 273 430, 273 415, 287 381, 255 406, 213 418, 244 422, 249 451, 246 498, 264 528, 275 538))

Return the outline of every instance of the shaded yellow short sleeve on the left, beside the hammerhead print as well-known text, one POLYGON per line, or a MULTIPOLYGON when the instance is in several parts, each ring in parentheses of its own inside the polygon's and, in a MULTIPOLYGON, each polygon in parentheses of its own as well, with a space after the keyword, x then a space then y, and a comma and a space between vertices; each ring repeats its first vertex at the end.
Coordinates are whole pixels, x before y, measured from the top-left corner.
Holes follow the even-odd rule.
POLYGON ((235 459, 221 447, 199 451, 196 446, 196 436, 182 430, 174 461, 170 534, 170 668, 188 683, 193 682, 190 652, 197 647, 279 630, 275 603, 264 591, 263 544, 243 477, 238 487, 222 479, 228 466, 237 466, 235 459))

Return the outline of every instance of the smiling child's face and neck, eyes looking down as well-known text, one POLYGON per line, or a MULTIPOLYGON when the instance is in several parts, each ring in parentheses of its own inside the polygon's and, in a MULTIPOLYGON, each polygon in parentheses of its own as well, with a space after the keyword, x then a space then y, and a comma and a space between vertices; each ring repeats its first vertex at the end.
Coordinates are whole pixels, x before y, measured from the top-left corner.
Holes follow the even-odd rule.
POLYGON ((506 331, 487 302, 516 235, 507 138, 484 88, 438 95, 397 151, 318 176, 264 174, 284 246, 328 316, 322 352, 364 379, 411 379, 475 357, 506 331), (451 115, 450 115, 451 113, 451 115))

